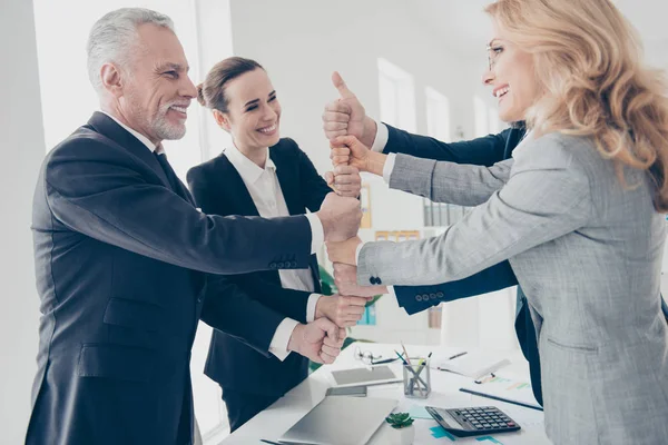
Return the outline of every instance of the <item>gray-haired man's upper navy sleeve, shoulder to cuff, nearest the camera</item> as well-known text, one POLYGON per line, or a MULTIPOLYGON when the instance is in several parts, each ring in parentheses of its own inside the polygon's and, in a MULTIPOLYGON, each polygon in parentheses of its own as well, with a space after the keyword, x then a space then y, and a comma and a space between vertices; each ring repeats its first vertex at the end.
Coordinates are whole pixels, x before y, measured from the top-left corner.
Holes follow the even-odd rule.
POLYGON ((97 240, 176 266, 213 274, 308 267, 304 216, 202 214, 166 187, 147 181, 131 157, 101 141, 72 139, 45 165, 47 202, 56 218, 97 240))

